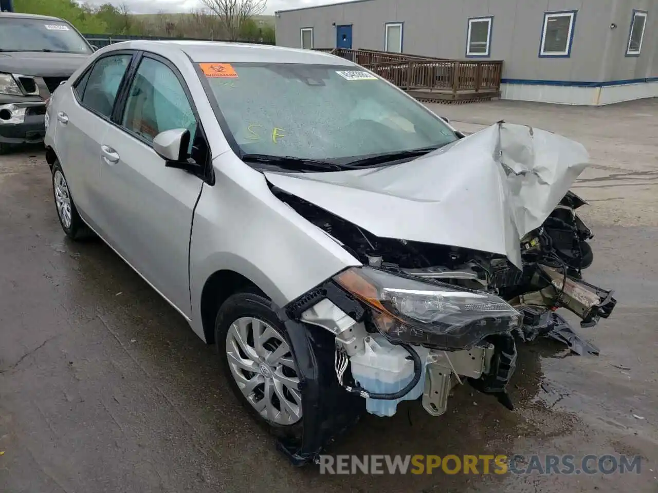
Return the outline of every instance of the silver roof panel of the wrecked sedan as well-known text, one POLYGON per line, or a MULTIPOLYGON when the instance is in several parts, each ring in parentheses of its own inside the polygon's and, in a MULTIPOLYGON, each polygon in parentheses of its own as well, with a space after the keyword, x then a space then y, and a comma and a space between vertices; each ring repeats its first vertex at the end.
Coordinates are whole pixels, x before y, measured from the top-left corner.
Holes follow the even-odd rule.
POLYGON ((161 55, 180 51, 193 62, 265 62, 303 63, 320 65, 355 65, 352 62, 306 49, 282 46, 259 45, 253 43, 226 43, 222 41, 147 41, 137 39, 111 45, 111 49, 139 49, 153 51, 161 55))

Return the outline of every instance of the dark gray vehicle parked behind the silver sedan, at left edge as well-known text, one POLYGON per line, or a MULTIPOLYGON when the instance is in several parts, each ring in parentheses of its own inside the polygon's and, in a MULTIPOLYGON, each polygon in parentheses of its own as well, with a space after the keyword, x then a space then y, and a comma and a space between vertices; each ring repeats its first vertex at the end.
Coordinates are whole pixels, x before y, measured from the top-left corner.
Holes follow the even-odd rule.
POLYGON ((93 51, 65 20, 0 13, 0 154, 12 144, 43 141, 51 93, 93 51))

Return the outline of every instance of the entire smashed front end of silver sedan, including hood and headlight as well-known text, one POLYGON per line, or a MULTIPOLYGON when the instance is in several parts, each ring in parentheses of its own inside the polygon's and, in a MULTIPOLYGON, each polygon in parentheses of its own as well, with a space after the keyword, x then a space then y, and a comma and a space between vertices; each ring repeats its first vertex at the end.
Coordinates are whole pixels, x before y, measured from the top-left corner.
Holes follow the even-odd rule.
POLYGON ((576 213, 586 202, 569 191, 588 162, 582 146, 502 123, 462 143, 409 163, 418 176, 404 164, 266 174, 278 199, 363 264, 283 312, 291 326, 334 336, 339 388, 378 416, 419 398, 442 415, 461 384, 512 410, 517 341, 547 337, 598 354, 557 310, 593 327, 617 303, 583 279, 594 235, 576 213))

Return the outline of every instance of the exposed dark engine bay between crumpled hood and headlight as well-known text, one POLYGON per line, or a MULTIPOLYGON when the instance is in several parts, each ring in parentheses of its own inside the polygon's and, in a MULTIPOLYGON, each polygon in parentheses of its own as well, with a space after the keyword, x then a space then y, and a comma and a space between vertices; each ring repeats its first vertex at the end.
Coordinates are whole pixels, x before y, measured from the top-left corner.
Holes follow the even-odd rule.
POLYGON ((501 255, 378 238, 303 199, 277 195, 367 266, 500 296, 523 312, 521 335, 530 340, 545 335, 546 329, 535 327, 545 323, 547 311, 567 308, 582 319, 582 327, 591 327, 615 306, 611 291, 582 281, 582 271, 592 265, 588 240, 594 235, 576 214, 585 202, 573 193, 522 239, 522 270, 501 255))

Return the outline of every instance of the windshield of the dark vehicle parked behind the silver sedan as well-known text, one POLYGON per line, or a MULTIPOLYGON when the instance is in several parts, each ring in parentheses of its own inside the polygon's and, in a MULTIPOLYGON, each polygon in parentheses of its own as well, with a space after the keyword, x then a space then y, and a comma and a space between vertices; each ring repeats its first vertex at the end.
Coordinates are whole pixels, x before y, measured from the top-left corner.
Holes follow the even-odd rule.
POLYGON ((61 20, 0 18, 0 51, 91 53, 84 38, 61 20))

